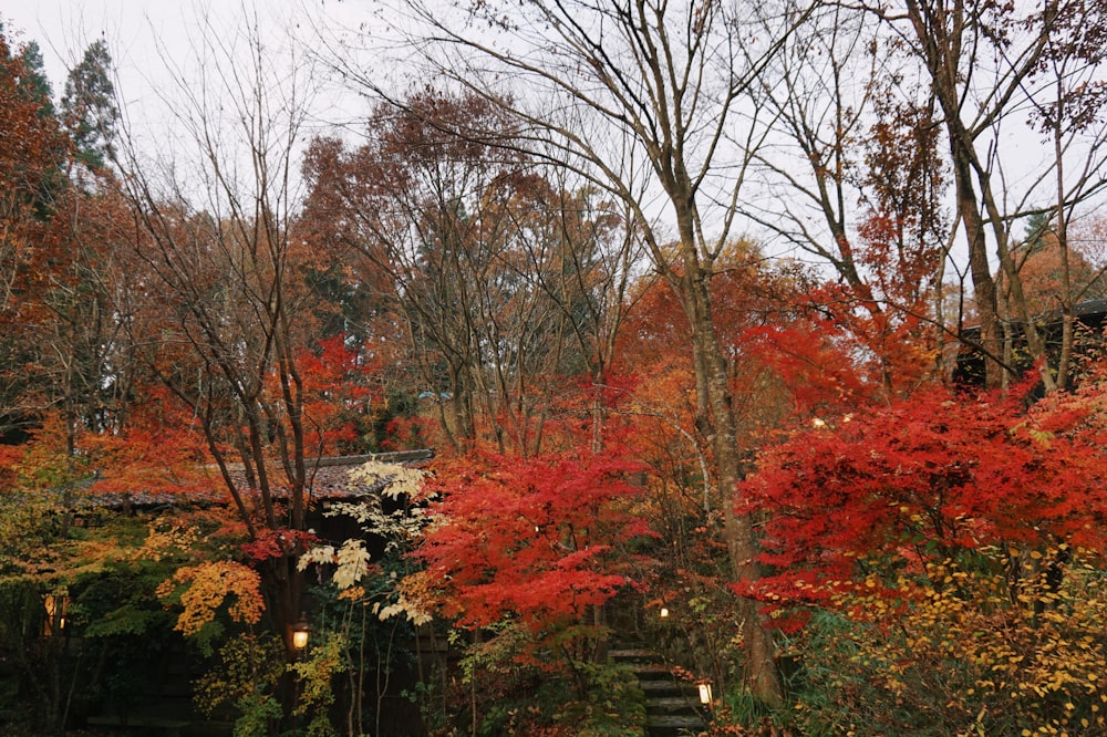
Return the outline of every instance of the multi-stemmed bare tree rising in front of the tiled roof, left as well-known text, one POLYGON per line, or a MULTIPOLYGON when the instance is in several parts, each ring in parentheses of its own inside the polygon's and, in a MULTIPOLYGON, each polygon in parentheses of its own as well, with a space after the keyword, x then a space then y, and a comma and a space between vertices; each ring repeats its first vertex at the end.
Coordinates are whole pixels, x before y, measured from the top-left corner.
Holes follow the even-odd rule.
MULTIPOLYGON (((163 55, 173 137, 118 145, 133 251, 118 310, 145 365, 192 408, 251 541, 267 615, 291 657, 308 509, 304 377, 312 307, 290 237, 310 66, 275 63, 258 29, 210 20, 193 72, 163 55)), ((124 123, 130 123, 124 117, 124 123)))

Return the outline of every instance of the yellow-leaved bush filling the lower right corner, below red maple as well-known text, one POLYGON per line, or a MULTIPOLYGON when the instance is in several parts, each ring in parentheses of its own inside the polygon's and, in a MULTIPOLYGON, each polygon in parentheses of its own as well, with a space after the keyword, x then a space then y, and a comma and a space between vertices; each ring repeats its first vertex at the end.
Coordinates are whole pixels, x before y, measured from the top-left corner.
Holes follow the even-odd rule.
POLYGON ((801 710, 821 718, 870 712, 875 731, 859 735, 882 734, 881 716, 897 713, 927 715, 927 734, 1018 734, 1007 731, 1015 726, 1031 730, 1023 734, 1107 734, 1098 706, 1107 702, 1104 572, 1079 564, 1084 551, 1068 551, 1064 577, 1054 570, 1049 580, 1039 563, 1058 560, 1058 551, 1034 552, 1013 560, 983 550, 924 577, 884 581, 883 591, 841 593, 836 603, 855 626, 809 645, 813 666, 837 674, 839 700, 801 703, 801 710), (1032 564, 1013 585, 1010 571, 1022 560, 1032 564), (889 589, 901 598, 890 600, 889 589))

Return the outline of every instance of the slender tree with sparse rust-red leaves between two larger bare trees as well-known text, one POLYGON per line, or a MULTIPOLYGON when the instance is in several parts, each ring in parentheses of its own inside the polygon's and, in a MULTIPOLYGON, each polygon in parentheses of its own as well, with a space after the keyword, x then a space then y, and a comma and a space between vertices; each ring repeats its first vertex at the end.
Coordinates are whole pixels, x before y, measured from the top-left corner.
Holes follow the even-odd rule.
MULTIPOLYGON (((918 90, 918 70, 883 31, 860 10, 828 4, 787 40, 755 87, 770 131, 757 152, 764 194, 744 208, 834 270, 840 312, 866 333, 858 338, 892 391, 903 366, 892 365, 886 344, 930 316, 946 225, 933 101, 901 91, 918 90)), ((928 332, 912 342, 932 347, 937 331, 928 332)))

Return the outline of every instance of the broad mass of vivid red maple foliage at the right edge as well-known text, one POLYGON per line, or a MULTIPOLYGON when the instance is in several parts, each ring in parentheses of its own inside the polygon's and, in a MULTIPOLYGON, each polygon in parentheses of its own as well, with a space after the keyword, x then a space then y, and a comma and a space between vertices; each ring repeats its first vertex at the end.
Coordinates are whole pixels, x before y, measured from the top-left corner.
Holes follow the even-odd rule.
POLYGON ((1104 406, 1101 387, 1030 411, 1025 390, 934 388, 767 450, 739 496, 769 575, 743 593, 826 601, 875 560, 921 572, 985 544, 1103 549, 1104 406))

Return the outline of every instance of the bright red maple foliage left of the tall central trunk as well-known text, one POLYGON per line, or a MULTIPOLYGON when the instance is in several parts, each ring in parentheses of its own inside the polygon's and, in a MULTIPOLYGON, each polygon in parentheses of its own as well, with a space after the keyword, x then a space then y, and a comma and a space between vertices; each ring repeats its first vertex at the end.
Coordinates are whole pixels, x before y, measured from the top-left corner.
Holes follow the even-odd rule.
POLYGON ((627 582, 621 543, 650 534, 625 501, 640 470, 614 455, 458 460, 418 551, 441 606, 463 626, 505 616, 535 631, 580 617, 627 582))

